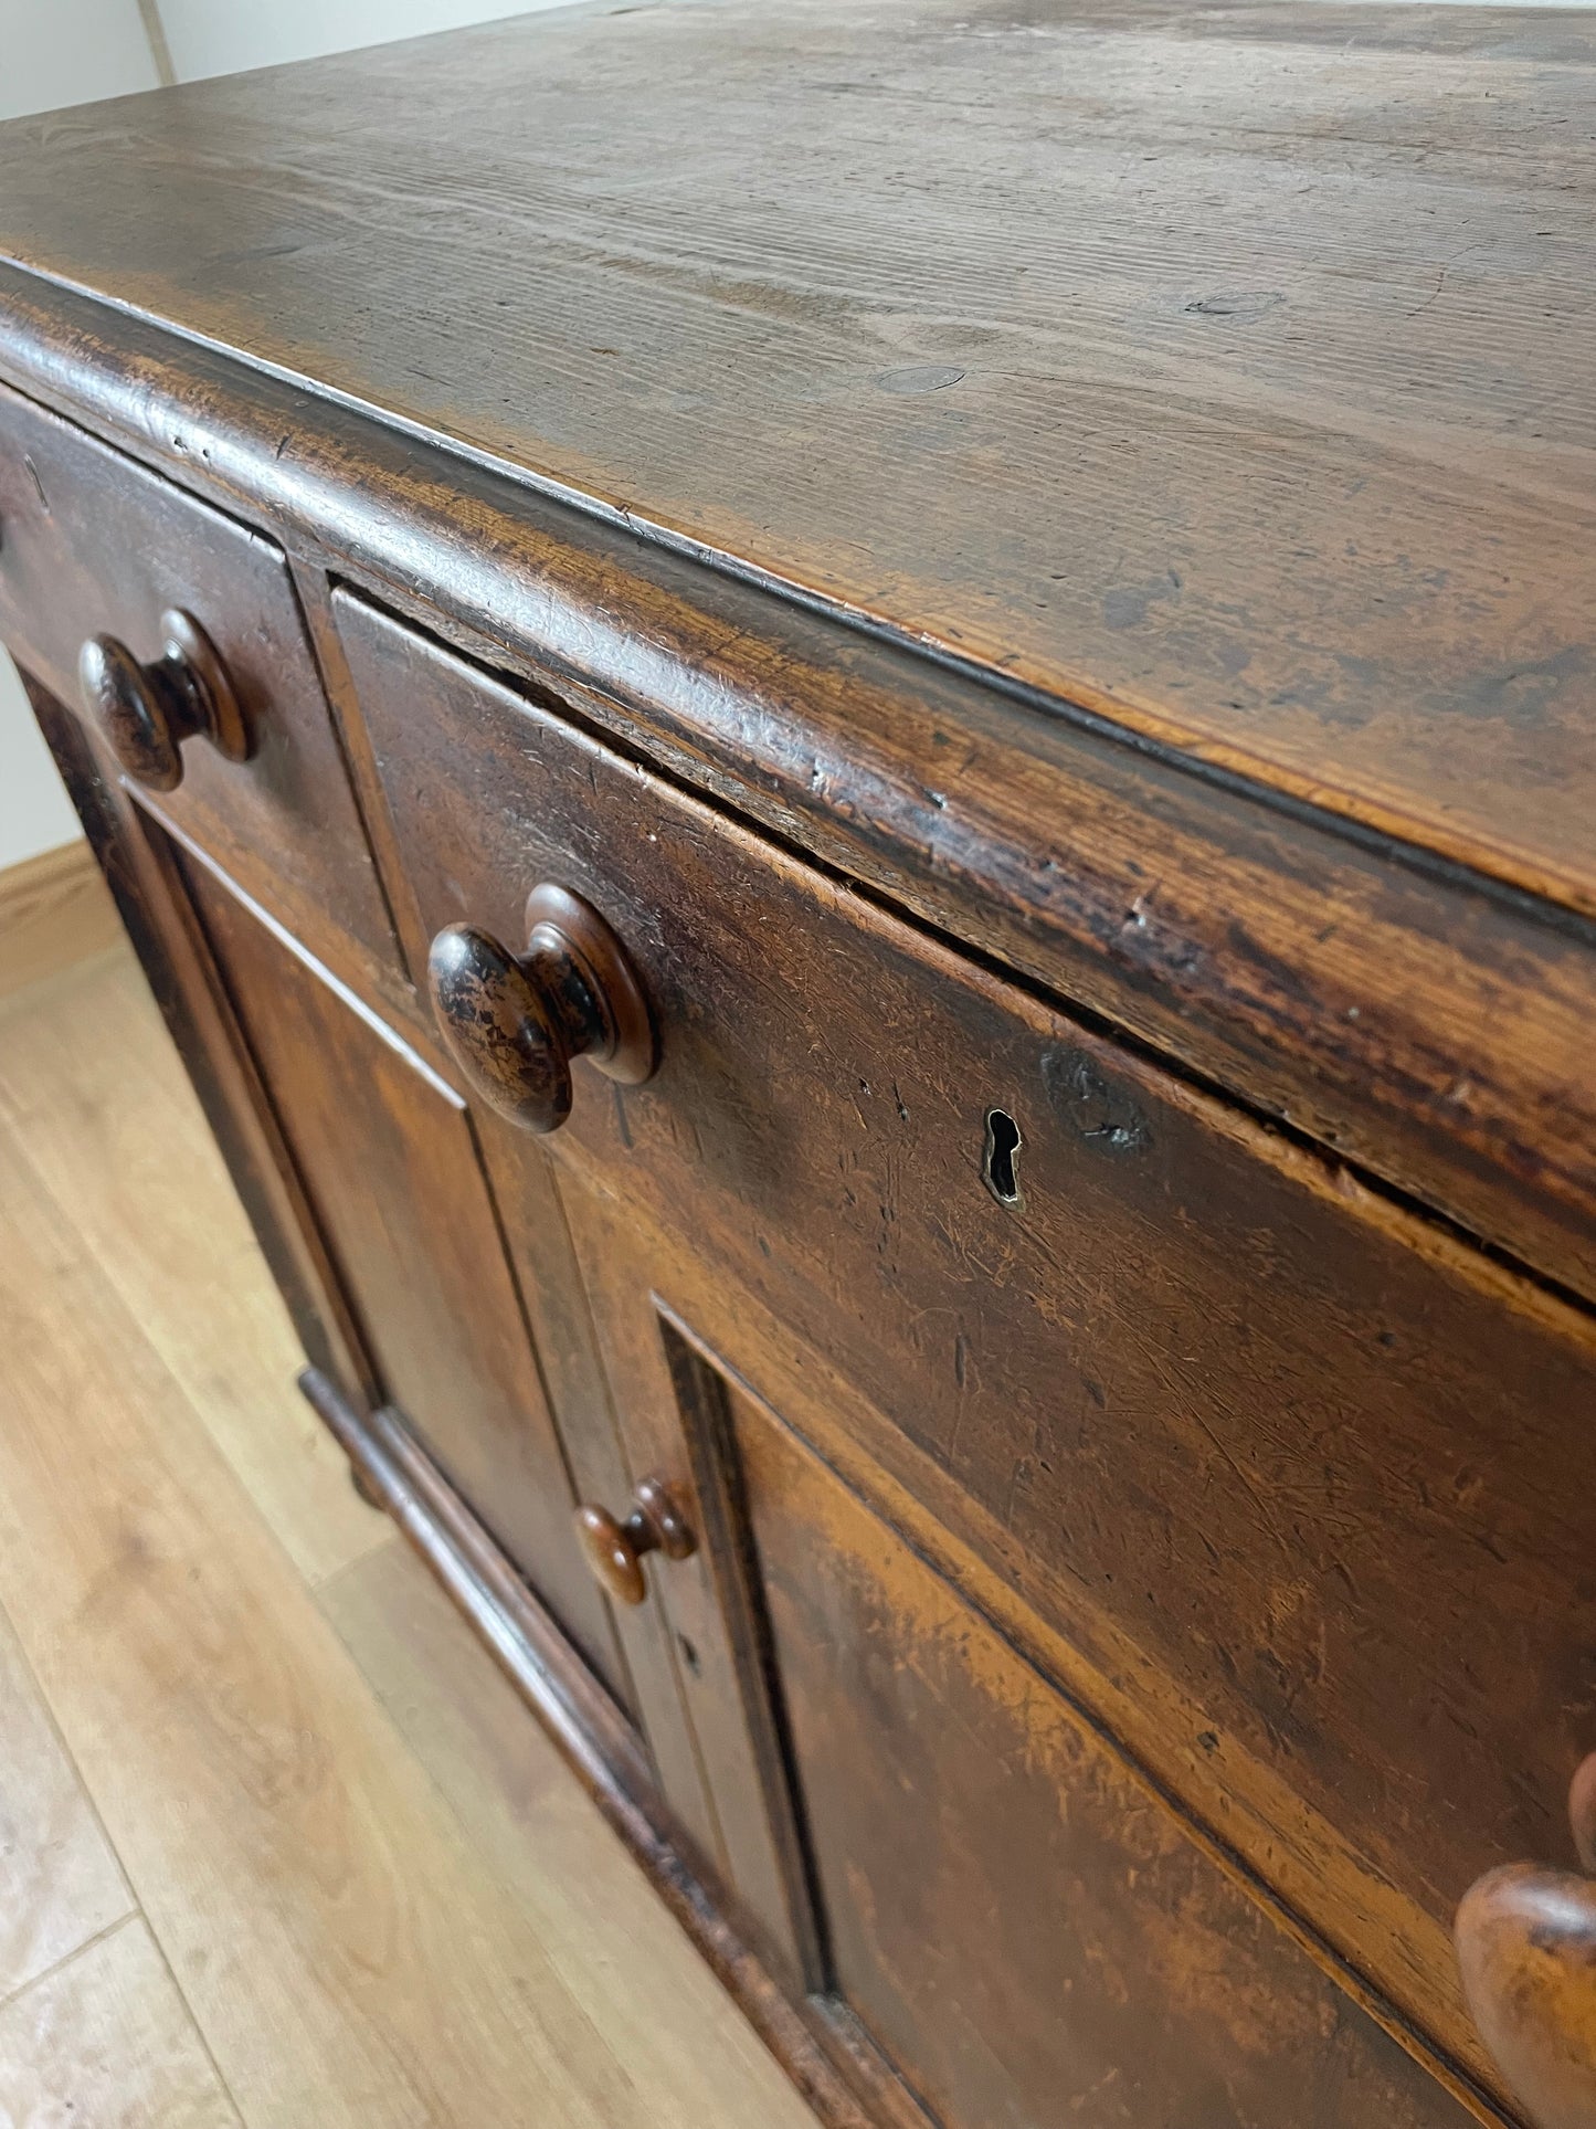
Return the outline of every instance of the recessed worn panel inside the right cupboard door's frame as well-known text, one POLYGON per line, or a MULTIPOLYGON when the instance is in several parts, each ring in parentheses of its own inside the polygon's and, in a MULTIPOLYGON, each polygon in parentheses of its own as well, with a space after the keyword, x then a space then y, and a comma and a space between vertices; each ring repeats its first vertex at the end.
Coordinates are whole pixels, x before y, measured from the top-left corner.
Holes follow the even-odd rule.
POLYGON ((726 1405, 832 1988, 941 2123, 1466 2120, 772 1412, 726 1405))

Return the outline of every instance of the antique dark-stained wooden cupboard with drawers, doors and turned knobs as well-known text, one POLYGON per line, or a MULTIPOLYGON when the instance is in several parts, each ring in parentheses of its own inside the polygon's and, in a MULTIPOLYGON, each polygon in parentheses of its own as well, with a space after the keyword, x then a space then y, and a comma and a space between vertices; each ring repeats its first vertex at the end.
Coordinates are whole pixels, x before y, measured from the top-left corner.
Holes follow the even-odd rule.
POLYGON ((1596 2120, 1594 143, 1317 0, 0 132, 304 1390, 832 2125, 1596 2120))

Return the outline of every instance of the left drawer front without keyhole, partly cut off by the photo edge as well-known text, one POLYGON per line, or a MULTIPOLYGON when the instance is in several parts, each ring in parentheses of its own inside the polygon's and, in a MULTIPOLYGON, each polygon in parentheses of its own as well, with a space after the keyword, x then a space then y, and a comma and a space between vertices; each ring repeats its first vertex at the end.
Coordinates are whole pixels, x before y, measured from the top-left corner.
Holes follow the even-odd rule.
POLYGON ((402 986, 281 549, 0 387, 0 641, 77 707, 83 641, 153 660, 166 609, 215 645, 253 754, 194 737, 179 788, 140 796, 338 973, 402 986))

